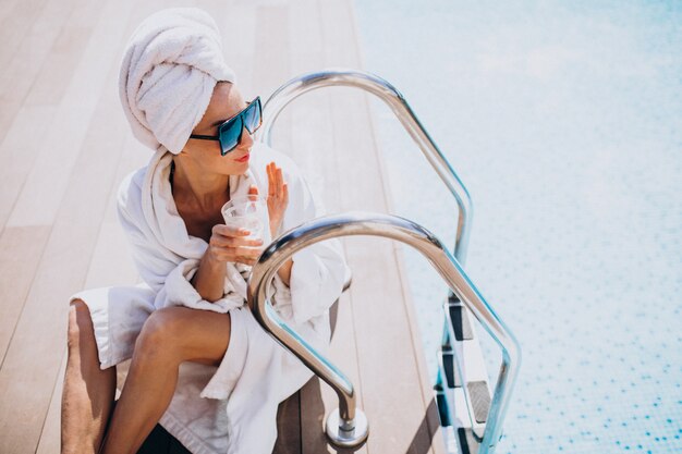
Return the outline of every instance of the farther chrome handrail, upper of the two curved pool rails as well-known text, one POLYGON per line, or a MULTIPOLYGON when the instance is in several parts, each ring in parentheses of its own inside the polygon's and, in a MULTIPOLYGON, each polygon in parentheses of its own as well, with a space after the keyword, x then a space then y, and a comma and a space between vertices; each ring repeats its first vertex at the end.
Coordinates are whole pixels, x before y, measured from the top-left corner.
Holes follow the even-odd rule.
POLYGON ((356 87, 372 93, 395 113, 458 203, 460 216, 454 240, 454 257, 464 265, 473 217, 471 196, 405 98, 383 78, 365 71, 343 68, 330 68, 294 77, 279 87, 266 101, 263 108, 263 125, 256 132, 256 139, 271 145, 272 126, 282 109, 304 93, 329 86, 356 87))

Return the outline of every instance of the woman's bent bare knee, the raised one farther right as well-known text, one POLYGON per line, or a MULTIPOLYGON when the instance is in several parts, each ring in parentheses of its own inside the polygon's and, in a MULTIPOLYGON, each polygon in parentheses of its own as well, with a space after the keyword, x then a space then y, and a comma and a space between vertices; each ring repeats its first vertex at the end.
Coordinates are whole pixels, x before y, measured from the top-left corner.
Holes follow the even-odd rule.
POLYGON ((173 356, 182 339, 178 308, 158 309, 149 315, 135 342, 135 354, 144 356, 173 356))

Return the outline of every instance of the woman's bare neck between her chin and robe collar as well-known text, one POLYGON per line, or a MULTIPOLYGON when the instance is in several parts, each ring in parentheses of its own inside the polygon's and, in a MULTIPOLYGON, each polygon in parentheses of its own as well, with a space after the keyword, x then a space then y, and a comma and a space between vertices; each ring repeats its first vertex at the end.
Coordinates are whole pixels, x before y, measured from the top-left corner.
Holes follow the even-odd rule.
POLYGON ((209 211, 229 199, 230 175, 202 174, 188 165, 173 161, 171 187, 175 203, 190 204, 202 211, 209 211))

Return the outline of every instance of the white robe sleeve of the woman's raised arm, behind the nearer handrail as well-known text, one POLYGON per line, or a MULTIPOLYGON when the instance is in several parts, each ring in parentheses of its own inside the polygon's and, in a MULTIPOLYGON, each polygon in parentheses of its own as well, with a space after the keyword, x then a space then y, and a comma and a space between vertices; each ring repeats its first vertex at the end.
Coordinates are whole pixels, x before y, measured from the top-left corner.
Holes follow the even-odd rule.
MULTIPOLYGON (((278 164, 281 162, 289 187, 289 206, 280 233, 324 216, 326 212, 321 201, 314 197, 293 161, 288 158, 276 158, 275 161, 278 164)), ((294 254, 292 260, 289 293, 293 319, 295 323, 303 323, 322 316, 339 298, 350 269, 339 240, 327 240, 308 246, 294 254)), ((287 292, 277 274, 275 286, 279 295, 287 292)))

